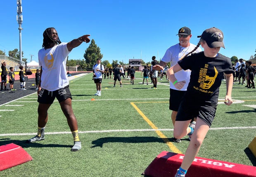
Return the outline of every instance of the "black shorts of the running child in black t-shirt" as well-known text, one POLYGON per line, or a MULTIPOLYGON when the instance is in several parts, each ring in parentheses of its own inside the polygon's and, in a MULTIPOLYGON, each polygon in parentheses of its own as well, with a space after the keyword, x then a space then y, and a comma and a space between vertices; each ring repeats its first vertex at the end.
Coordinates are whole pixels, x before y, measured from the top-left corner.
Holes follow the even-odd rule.
POLYGON ((192 94, 188 96, 185 94, 180 103, 176 121, 192 120, 194 117, 199 117, 211 127, 216 113, 217 102, 205 100, 204 98, 199 99, 198 96, 192 94))

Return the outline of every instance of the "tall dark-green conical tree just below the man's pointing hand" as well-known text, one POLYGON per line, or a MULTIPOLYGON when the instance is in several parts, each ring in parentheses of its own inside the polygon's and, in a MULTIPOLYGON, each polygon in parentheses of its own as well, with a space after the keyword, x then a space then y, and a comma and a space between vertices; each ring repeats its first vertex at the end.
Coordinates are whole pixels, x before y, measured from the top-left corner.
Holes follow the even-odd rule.
POLYGON ((92 68, 93 64, 96 63, 96 60, 99 58, 102 59, 103 55, 100 53, 100 47, 95 44, 94 39, 92 39, 91 44, 85 50, 85 54, 83 55, 85 61, 87 63, 87 67, 92 68))

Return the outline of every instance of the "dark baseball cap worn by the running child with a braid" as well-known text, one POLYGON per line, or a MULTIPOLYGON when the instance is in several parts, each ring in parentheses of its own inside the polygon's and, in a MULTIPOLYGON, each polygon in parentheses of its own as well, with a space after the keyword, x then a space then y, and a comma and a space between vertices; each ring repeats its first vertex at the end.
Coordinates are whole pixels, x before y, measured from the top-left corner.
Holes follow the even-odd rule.
POLYGON ((207 45, 210 48, 215 48, 215 47, 223 47, 224 43, 223 43, 223 32, 218 29, 218 28, 209 28, 204 30, 204 32, 202 33, 201 39, 203 39, 204 41, 206 41, 207 45))

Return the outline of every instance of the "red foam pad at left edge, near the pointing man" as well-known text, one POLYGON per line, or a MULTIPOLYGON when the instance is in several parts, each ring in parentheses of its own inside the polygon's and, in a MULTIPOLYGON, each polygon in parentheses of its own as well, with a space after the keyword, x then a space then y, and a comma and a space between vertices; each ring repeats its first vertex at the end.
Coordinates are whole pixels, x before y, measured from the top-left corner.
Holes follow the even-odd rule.
POLYGON ((0 146, 0 171, 32 160, 21 146, 14 143, 0 146))

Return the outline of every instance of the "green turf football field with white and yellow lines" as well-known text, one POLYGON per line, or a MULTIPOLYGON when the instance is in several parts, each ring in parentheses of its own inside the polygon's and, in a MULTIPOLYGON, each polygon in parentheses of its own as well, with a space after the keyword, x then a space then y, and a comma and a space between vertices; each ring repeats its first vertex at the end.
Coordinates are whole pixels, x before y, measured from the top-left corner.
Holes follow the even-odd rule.
MULTIPOLYGON (((36 92, 0 105, 0 145, 14 143, 33 158, 0 176, 141 177, 162 151, 184 154, 188 137, 173 143, 168 81, 158 80, 157 89, 151 89, 152 84, 142 85, 140 73, 135 73, 134 85, 123 79, 123 87, 102 79, 100 97, 94 96, 92 73, 72 76, 69 88, 82 142, 78 152, 70 151, 73 136, 57 99, 48 111, 45 140, 34 143, 26 140, 37 133, 36 92)), ((256 89, 244 86, 233 85, 233 103, 226 106, 223 81, 216 117, 199 157, 256 166, 248 148, 256 136, 256 89)))

